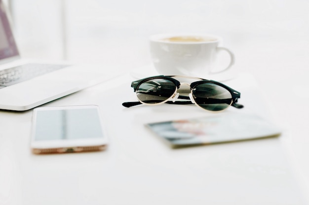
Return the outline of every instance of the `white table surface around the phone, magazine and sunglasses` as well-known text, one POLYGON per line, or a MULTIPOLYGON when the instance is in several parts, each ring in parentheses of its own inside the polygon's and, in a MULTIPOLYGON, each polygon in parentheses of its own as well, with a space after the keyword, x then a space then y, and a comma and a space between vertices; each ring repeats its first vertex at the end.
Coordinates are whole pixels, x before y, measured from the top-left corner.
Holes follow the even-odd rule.
MULTIPOLYGON (((109 137, 103 152, 34 155, 33 111, 0 111, 0 205, 307 204, 299 162, 308 162, 294 160, 288 128, 275 138, 171 149, 144 124, 213 113, 193 105, 125 108, 136 101, 132 80, 125 74, 42 105, 99 105, 109 137)), ((276 123, 251 74, 226 84, 241 92, 241 111, 276 123)))

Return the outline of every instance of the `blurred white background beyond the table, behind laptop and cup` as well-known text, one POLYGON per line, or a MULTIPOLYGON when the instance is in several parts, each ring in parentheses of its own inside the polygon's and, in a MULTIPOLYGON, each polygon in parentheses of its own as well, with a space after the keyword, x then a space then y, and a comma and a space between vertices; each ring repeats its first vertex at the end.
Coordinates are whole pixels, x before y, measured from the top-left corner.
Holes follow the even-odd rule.
MULTIPOLYGON (((27 58, 117 64, 127 72, 151 62, 151 34, 222 36, 235 53, 235 69, 256 77, 276 123, 290 133, 296 161, 308 161, 308 0, 6 2, 27 58)), ((299 163, 303 173, 307 164, 299 163)))

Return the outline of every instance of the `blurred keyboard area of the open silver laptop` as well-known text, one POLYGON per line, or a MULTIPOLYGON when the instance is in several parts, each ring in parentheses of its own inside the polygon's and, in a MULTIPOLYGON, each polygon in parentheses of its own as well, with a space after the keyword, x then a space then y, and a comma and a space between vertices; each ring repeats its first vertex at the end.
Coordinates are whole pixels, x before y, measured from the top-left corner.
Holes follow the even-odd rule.
POLYGON ((65 67, 68 65, 25 64, 0 70, 0 89, 65 67))

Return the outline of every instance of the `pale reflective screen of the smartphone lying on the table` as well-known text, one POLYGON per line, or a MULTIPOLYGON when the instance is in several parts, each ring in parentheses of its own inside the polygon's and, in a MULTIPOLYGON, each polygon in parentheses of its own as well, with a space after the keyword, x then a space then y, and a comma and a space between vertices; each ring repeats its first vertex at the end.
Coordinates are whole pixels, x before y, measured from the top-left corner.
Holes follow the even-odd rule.
POLYGON ((35 140, 69 140, 102 137, 96 108, 38 110, 35 140))

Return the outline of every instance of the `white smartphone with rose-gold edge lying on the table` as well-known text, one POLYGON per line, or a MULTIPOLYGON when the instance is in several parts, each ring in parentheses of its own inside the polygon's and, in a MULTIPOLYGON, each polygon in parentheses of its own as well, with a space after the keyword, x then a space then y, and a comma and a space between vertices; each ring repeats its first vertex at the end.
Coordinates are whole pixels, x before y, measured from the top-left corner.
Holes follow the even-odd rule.
POLYGON ((107 136, 97 105, 34 109, 31 149, 35 154, 100 151, 107 136))

